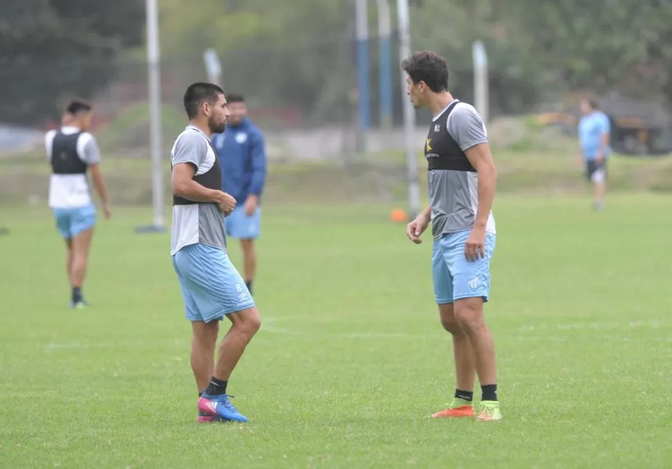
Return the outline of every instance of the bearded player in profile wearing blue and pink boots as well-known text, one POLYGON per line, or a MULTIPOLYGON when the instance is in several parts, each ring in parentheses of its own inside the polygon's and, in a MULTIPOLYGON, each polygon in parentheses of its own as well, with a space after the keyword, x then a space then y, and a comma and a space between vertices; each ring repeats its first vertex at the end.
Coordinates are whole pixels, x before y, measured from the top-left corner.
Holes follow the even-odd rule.
POLYGON ((227 384, 261 320, 227 255, 224 217, 236 207, 236 199, 222 192, 222 167, 211 143, 213 134, 227 125, 227 100, 219 86, 194 83, 184 93, 184 109, 189 125, 170 154, 170 255, 193 329, 191 368, 199 392, 198 421, 247 422, 229 401, 227 384), (219 322, 224 316, 231 328, 215 361, 219 322))

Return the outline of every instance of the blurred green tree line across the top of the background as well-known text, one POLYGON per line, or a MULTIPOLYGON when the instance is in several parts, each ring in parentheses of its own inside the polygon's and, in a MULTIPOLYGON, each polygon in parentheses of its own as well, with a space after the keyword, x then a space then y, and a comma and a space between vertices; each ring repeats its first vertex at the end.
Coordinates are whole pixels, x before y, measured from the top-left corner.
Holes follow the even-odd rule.
MULTIPOLYGON (((672 2, 410 3, 413 48, 448 57, 452 86, 466 99, 471 43, 481 39, 490 56, 493 105, 502 112, 581 89, 672 100, 672 2)), ((375 1, 369 4, 375 36, 375 1)), ((161 0, 159 8, 163 57, 200 57, 214 47, 227 80, 258 91, 266 102, 290 100, 313 112, 338 113, 335 104, 356 82, 353 1, 199 0, 196 7, 161 0)), ((3 0, 0 121, 54 118, 66 97, 104 89, 121 60, 143 57, 144 24, 142 0, 3 0)), ((370 46, 374 81, 375 37, 370 46)), ((398 75, 395 70, 400 85, 398 75)))

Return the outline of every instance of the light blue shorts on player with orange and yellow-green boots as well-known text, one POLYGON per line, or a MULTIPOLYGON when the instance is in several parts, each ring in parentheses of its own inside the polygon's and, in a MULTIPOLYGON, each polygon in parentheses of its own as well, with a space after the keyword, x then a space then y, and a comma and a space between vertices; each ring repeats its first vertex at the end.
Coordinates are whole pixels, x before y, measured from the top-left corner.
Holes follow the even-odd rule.
POLYGON ((486 256, 468 261, 464 244, 470 231, 448 233, 434 240, 432 278, 434 298, 438 304, 449 304, 461 298, 490 296, 490 259, 495 252, 495 235, 486 233, 486 256))

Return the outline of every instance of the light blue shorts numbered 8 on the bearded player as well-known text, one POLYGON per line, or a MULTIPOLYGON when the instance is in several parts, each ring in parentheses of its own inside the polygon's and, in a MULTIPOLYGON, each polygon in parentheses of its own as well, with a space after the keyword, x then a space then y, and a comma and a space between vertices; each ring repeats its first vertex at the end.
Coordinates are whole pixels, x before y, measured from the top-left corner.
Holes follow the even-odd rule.
POLYGON ((184 246, 173 256, 173 268, 190 321, 222 320, 254 306, 240 273, 221 249, 201 243, 184 246))

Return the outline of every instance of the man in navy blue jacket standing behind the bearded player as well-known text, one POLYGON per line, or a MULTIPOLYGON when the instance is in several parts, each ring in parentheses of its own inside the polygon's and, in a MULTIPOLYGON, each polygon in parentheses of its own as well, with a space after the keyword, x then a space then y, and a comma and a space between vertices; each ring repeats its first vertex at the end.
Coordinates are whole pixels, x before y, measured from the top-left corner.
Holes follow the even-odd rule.
POLYGON ((266 181, 266 152, 261 131, 247 118, 242 95, 227 95, 229 120, 213 143, 222 164, 222 189, 236 199, 236 208, 225 224, 227 235, 240 239, 245 284, 252 293, 256 273, 254 241, 261 230, 261 194, 266 181))

